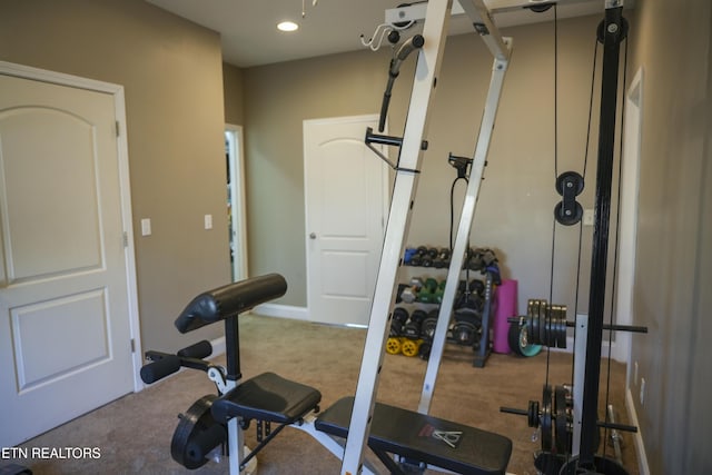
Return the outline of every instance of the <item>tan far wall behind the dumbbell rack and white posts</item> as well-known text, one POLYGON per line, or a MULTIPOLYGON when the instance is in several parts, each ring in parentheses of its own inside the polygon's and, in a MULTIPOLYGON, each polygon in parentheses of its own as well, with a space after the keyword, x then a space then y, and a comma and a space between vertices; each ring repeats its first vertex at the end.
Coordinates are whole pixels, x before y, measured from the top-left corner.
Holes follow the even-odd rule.
MULTIPOLYGON (((583 171, 593 46, 599 17, 562 21, 558 70, 558 172, 583 171)), ((548 298, 554 190, 554 69, 552 23, 504 31, 514 37, 490 166, 472 243, 497 249, 505 276, 520 280, 520 308, 548 298)), ((306 305, 304 119, 377 113, 389 52, 358 51, 245 70, 250 271, 280 271, 289 281, 281 303, 306 305), (259 184, 250 187, 249 184, 259 184)), ((600 58, 600 56, 599 56, 600 58)), ((402 135, 415 61, 396 81, 389 127, 402 135)), ((490 82, 492 57, 475 34, 451 37, 431 115, 429 149, 415 202, 411 245, 447 246, 449 151, 472 156, 490 82)), ((594 111, 597 116, 597 111, 594 111)), ((594 136, 595 136, 595 122, 594 136)), ((594 148, 595 149, 595 148, 594 148)), ((377 158, 374 156, 374 159, 377 158)), ((593 206, 595 157, 590 158, 585 207, 593 206)), ((459 190, 463 190, 462 182, 459 190)), ((456 202, 461 207, 462 192, 456 202)), ((456 214, 456 219, 458 214, 456 214)), ((590 232, 584 229, 584 250, 590 232)), ((578 231, 558 227, 554 299, 574 306, 578 231)), ((589 261, 583 263, 582 286, 589 261)), ((345 269, 345 271, 347 271, 345 269)), ((583 295, 587 295, 582 291, 583 295)), ((587 300, 581 299, 580 311, 587 300)))

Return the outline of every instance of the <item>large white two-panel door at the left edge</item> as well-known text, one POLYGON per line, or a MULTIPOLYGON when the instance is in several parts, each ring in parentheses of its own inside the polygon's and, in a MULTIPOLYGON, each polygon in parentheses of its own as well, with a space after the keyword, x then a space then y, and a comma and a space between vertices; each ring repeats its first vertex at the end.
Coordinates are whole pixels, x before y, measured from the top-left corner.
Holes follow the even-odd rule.
POLYGON ((0 446, 135 387, 116 117, 111 93, 0 73, 0 446))

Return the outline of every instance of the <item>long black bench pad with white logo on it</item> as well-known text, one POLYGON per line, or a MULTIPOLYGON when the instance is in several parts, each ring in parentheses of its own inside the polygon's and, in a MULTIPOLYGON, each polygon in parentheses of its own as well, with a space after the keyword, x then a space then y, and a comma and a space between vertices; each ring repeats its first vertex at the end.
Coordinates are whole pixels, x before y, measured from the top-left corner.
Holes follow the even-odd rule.
MULTIPOLYGON (((339 399, 317 417, 315 427, 346 438, 353 406, 353 397, 339 399)), ((380 403, 374 409, 368 446, 476 475, 504 475, 512 455, 512 441, 502 435, 380 403)))

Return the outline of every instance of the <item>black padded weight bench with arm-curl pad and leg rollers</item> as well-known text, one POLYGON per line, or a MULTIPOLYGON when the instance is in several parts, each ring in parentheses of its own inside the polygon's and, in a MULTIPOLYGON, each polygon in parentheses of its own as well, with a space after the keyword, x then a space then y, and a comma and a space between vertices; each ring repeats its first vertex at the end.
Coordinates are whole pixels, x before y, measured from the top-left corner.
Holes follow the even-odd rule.
MULTIPOLYGON (((209 346, 207 342, 192 346, 200 348, 199 352, 192 347, 184 348, 178 355, 147 352, 147 358, 152 363, 141 368, 146 383, 154 383, 186 366, 206 370, 220 393, 199 404, 198 408, 189 409, 179 424, 174 435, 176 453, 171 444, 171 455, 181 465, 188 468, 201 466, 209 453, 227 442, 230 473, 238 474, 287 426, 308 433, 334 455, 344 457, 344 445, 338 439, 348 435, 353 397, 338 400, 316 416, 322 394, 310 386, 275 373, 263 373, 240 382, 238 316, 284 295, 286 288, 287 283, 278 274, 246 279, 200 294, 176 319, 180 333, 224 321, 227 369, 199 359, 206 355, 202 347, 209 346), (244 456, 243 431, 253 420, 257 423, 258 446, 244 456), (271 424, 278 424, 278 427, 273 431, 271 424)), ((421 467, 432 465, 463 474, 504 475, 512 453, 512 442, 501 435, 378 403, 368 446, 394 474, 404 471, 390 455, 421 467)), ((364 473, 377 472, 366 462, 364 473)))

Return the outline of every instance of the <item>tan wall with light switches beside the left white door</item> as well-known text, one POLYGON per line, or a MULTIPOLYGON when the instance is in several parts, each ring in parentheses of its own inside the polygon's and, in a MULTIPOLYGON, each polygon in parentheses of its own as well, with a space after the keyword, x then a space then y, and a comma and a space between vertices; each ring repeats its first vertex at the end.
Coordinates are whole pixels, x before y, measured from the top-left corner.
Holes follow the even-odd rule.
POLYGON ((4 1, 0 59, 125 87, 144 347, 218 336, 172 326, 192 296, 229 279, 218 34, 140 0, 4 1))

